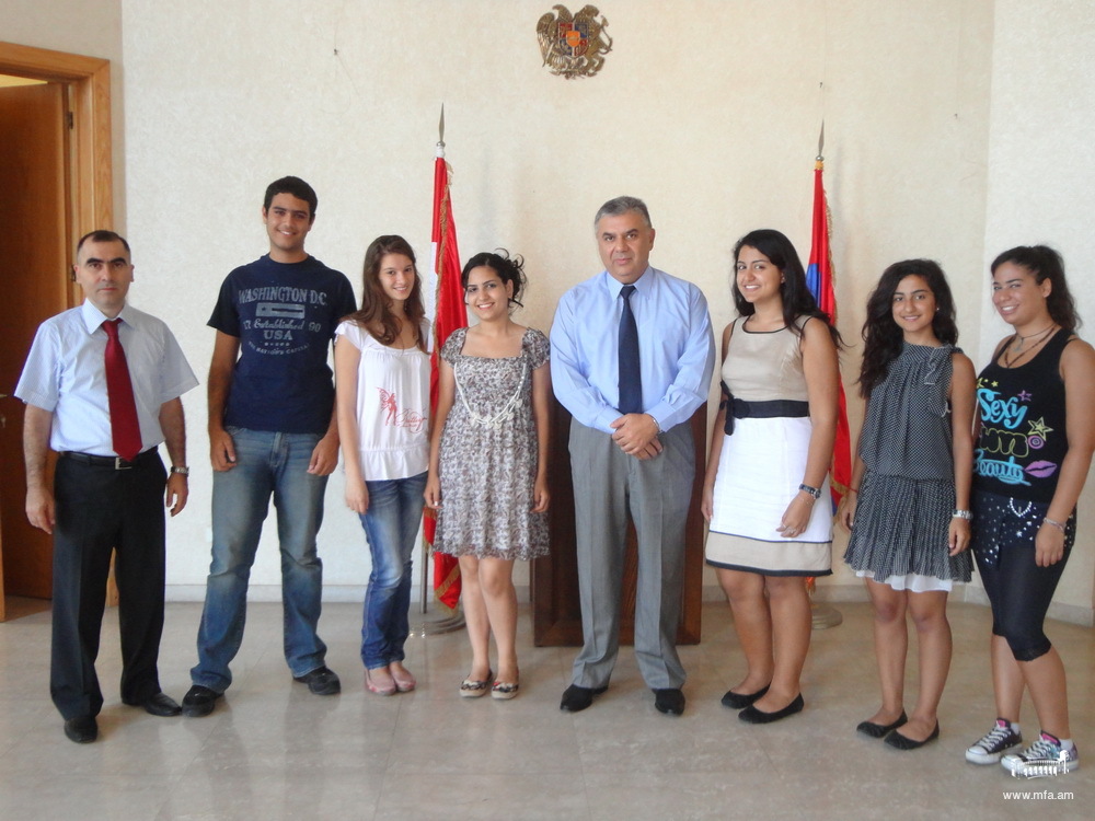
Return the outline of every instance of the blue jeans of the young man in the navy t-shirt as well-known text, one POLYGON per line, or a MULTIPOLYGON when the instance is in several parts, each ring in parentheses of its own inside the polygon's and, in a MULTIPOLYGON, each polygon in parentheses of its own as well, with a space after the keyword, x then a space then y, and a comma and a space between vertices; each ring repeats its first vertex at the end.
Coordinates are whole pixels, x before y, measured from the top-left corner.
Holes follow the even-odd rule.
POLYGON ((323 667, 327 650, 315 633, 323 589, 315 534, 327 477, 308 473, 320 437, 235 427, 228 432, 235 466, 212 474, 212 563, 198 627, 198 663, 191 669, 195 684, 218 693, 232 683, 228 666, 243 641, 247 581, 272 494, 281 551, 285 659, 300 677, 323 667))

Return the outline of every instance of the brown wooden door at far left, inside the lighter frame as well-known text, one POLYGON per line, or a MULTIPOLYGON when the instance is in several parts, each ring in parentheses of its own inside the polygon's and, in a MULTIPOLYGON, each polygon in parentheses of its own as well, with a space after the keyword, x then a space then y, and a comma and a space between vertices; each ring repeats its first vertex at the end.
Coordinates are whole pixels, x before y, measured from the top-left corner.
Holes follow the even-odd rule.
POLYGON ((11 396, 38 324, 68 308, 68 125, 64 83, 0 89, 0 551, 4 592, 49 599, 53 540, 26 520, 23 403, 11 396))

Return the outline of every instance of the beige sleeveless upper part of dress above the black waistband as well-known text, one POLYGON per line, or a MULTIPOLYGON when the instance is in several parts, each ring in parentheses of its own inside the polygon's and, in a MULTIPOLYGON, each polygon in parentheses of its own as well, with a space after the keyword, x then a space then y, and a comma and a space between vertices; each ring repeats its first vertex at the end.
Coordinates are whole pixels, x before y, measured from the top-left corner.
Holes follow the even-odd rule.
MULTIPOLYGON (((802 328, 809 319, 799 316, 795 324, 802 328)), ((730 345, 721 371, 730 393, 746 402, 806 402, 802 337, 788 327, 750 333, 742 327, 744 324, 744 316, 734 321, 730 345)))

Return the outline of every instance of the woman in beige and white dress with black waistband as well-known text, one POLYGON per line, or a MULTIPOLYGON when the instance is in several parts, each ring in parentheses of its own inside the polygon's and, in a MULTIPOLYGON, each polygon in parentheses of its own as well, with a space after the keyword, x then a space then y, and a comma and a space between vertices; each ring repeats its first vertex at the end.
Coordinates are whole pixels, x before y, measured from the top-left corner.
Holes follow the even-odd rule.
POLYGON ((706 559, 730 601, 748 668, 723 704, 744 721, 768 724, 803 709, 806 579, 831 573, 827 474, 840 335, 782 233, 752 231, 734 257, 739 317, 723 332, 724 402, 703 487, 706 559))

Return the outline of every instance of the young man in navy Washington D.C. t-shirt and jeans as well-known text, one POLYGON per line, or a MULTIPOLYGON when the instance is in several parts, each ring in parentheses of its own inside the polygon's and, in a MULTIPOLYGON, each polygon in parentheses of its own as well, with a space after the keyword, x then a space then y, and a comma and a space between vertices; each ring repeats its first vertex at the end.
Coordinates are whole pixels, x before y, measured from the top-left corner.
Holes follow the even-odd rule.
POLYGON ((327 350, 338 321, 357 307, 349 280, 304 252, 315 206, 303 180, 269 185, 262 211, 269 253, 228 275, 209 319, 217 331, 208 380, 212 563, 187 716, 211 713, 232 683, 228 666, 243 640, 247 579, 272 495, 286 661, 312 693, 341 690, 316 635, 323 565, 315 534, 338 462, 327 350))

